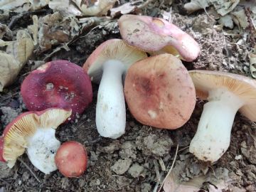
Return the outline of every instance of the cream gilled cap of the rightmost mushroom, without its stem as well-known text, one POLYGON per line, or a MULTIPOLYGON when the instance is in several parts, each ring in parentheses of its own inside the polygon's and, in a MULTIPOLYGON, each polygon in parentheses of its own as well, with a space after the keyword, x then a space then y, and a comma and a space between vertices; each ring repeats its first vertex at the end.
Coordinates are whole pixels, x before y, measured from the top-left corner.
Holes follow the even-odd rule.
POLYGON ((196 87, 196 95, 207 100, 210 90, 225 88, 245 101, 240 112, 256 121, 256 81, 242 75, 208 70, 191 70, 189 75, 196 87))

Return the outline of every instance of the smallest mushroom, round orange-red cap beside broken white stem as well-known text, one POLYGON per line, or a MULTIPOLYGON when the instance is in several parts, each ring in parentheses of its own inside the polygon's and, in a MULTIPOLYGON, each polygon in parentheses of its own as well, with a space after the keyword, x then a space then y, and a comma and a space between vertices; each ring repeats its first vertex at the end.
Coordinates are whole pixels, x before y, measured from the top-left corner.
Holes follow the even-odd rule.
POLYGON ((61 144, 55 155, 55 164, 60 173, 64 176, 81 176, 87 166, 87 152, 85 146, 74 141, 61 144))

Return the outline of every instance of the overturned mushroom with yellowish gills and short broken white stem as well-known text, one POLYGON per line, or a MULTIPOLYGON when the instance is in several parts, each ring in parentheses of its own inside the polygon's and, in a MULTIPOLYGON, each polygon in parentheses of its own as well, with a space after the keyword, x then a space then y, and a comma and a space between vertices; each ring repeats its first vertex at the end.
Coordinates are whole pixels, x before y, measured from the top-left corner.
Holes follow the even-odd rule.
POLYGON ((4 129, 3 140, 0 139, 0 160, 6 161, 11 168, 26 149, 28 159, 37 169, 45 174, 55 171, 54 156, 60 146, 55 129, 70 114, 71 110, 58 108, 20 114, 4 129))

